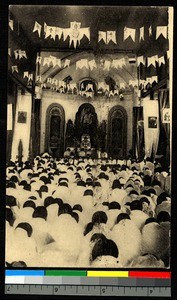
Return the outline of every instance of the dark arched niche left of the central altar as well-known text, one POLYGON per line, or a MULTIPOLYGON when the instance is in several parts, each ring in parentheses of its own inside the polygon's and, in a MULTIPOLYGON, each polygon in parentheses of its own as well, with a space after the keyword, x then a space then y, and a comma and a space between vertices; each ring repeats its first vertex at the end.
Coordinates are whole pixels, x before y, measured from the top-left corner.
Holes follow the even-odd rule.
POLYGON ((51 104, 46 112, 45 149, 56 157, 62 157, 64 151, 65 112, 58 103, 51 104))

